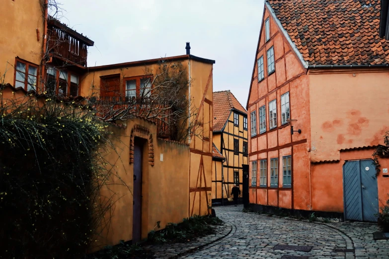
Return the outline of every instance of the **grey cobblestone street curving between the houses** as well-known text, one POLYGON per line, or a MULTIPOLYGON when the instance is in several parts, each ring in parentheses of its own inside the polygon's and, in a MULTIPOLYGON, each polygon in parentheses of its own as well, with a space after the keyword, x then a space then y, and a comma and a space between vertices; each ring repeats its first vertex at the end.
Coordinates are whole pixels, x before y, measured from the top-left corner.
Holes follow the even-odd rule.
POLYGON ((242 208, 242 205, 215 207, 217 216, 232 226, 231 233, 180 258, 389 259, 389 241, 373 240, 373 232, 378 231, 375 224, 309 223, 243 213, 242 208), (274 250, 276 245, 312 246, 312 249, 310 252, 274 250), (335 249, 352 252, 335 252, 335 249))

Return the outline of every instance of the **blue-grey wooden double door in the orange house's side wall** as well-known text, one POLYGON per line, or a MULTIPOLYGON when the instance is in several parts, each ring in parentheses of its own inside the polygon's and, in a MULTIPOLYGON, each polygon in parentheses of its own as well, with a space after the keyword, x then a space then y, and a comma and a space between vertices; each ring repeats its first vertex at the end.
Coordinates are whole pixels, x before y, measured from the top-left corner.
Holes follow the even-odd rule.
POLYGON ((347 161, 343 166, 344 217, 377 221, 378 188, 373 160, 347 161))

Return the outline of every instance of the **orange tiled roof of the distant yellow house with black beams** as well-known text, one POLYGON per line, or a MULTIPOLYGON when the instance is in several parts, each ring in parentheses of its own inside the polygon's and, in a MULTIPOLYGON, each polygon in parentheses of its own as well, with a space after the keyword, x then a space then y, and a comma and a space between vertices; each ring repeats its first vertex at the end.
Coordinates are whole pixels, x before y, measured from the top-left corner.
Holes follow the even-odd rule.
POLYGON ((230 110, 235 109, 247 114, 243 106, 236 100, 230 90, 213 93, 213 131, 221 131, 230 116, 230 110), (215 119, 216 118, 216 119, 215 119))

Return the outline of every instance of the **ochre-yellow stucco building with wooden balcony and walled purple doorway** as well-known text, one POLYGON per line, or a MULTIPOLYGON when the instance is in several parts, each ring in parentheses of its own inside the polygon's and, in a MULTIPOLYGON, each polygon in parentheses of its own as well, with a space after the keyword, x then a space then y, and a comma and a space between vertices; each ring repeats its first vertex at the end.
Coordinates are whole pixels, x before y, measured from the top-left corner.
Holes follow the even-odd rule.
POLYGON ((19 97, 30 91, 55 93, 60 98, 85 96, 93 101, 92 97, 101 97, 102 84, 112 86, 109 92, 113 95, 126 95, 127 80, 137 82, 134 92, 139 94, 139 81, 152 77, 162 61, 181 64, 191 81, 185 91, 196 108, 190 120, 197 130, 182 143, 161 136, 155 123, 142 118, 117 122, 120 127, 111 126, 120 152, 108 153, 107 157, 115 165, 122 161, 117 170, 128 188, 102 190, 110 195, 113 192, 119 201, 110 216, 110 229, 104 230, 107 235, 97 247, 144 239, 157 221, 163 228, 169 222, 179 223, 183 218, 211 212, 215 61, 190 55, 187 43, 186 55, 182 56, 88 67, 87 47, 94 42, 50 17, 47 0, 5 0, 0 10, 4 20, 0 31, 7 35, 0 40, 1 83, 13 85, 7 89, 19 97), (145 69, 151 74, 145 75, 145 69), (137 184, 135 179, 142 181, 137 184), (134 213, 138 217, 136 231, 134 213))

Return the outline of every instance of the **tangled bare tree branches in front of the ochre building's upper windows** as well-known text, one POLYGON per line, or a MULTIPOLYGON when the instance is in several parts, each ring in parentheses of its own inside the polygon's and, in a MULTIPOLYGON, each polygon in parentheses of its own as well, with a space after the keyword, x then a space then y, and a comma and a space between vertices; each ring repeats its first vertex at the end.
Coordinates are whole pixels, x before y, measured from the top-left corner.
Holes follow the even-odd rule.
POLYGON ((96 103, 97 116, 103 121, 143 117, 156 122, 160 137, 185 141, 201 125, 194 120, 198 108, 189 95, 192 81, 181 63, 162 59, 154 71, 145 67, 138 90, 128 81, 122 93, 119 90, 121 81, 113 82, 113 85, 112 82, 103 83, 100 91, 92 85, 92 93, 96 94, 97 90, 100 95, 91 100, 98 100, 93 102, 96 103))

